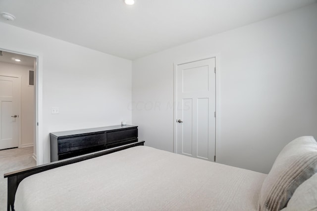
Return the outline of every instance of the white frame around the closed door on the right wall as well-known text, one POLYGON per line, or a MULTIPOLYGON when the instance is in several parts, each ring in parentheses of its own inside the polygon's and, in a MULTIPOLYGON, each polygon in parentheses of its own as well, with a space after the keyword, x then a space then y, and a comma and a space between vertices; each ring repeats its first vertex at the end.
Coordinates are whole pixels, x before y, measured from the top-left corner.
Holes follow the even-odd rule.
POLYGON ((182 64, 187 64, 191 62, 197 62, 205 59, 211 59, 215 58, 215 67, 216 67, 216 74, 215 74, 215 109, 216 109, 216 117, 215 117, 215 152, 214 154, 216 155, 216 152, 218 151, 217 149, 220 146, 220 54, 212 54, 212 55, 207 55, 207 56, 200 56, 200 57, 195 57, 191 59, 183 59, 180 61, 176 61, 173 63, 174 65, 174 115, 173 115, 173 152, 176 153, 177 149, 177 123, 176 123, 176 116, 177 116, 177 66, 182 65, 182 64))

